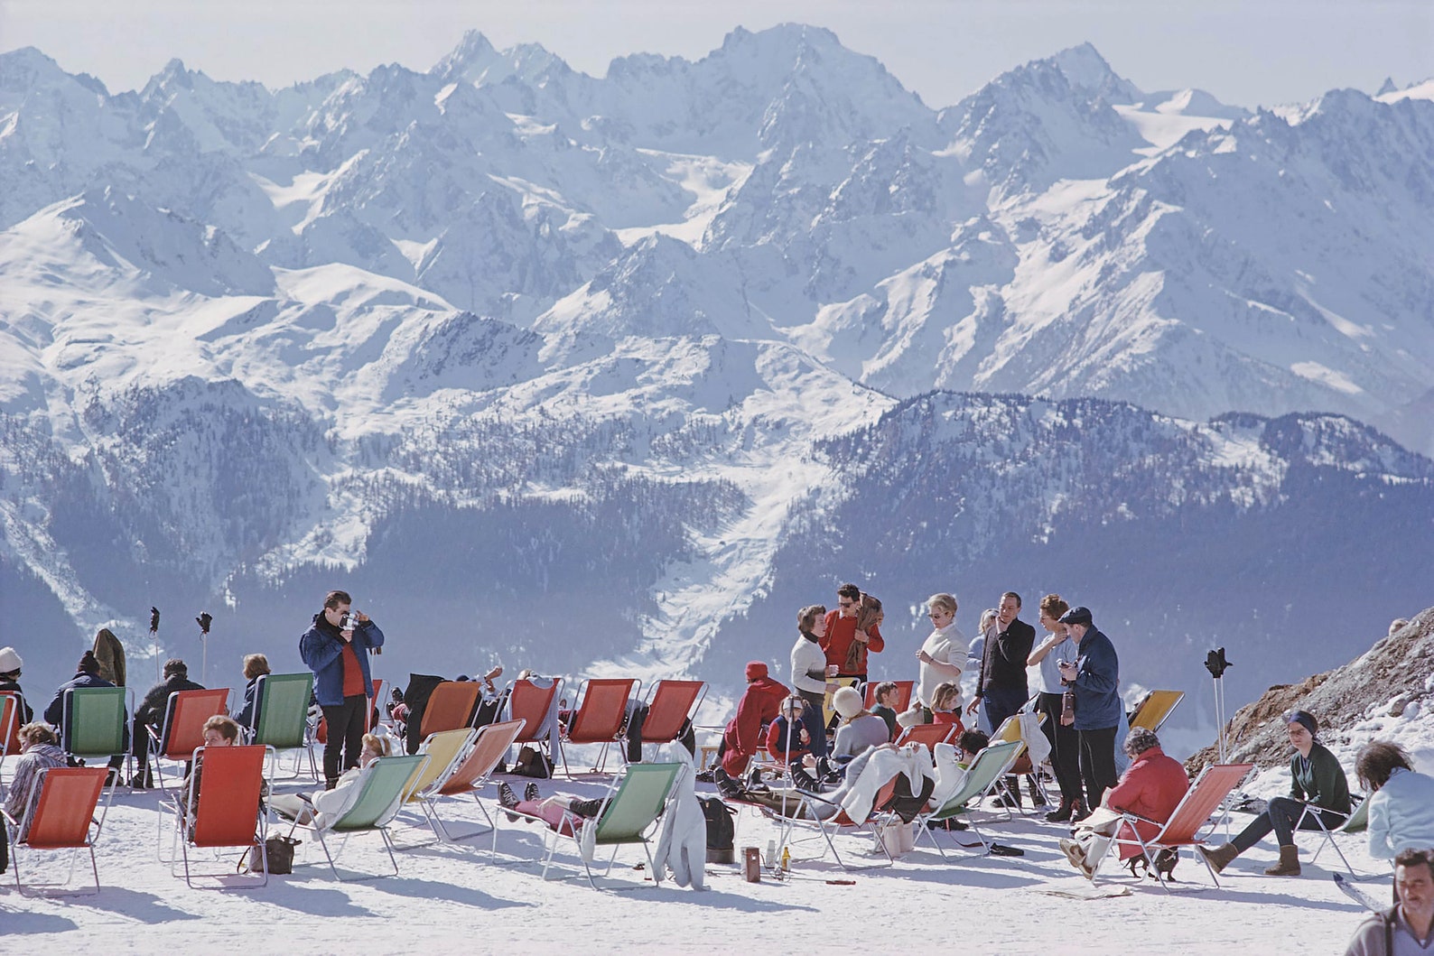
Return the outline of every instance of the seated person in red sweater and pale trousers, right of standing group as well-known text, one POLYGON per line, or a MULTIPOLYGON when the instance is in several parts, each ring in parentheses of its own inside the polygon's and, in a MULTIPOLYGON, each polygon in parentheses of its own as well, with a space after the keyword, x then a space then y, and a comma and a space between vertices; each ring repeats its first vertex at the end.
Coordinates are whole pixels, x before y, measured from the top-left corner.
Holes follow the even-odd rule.
MULTIPOLYGON (((1065 853, 1065 859, 1086 879, 1094 879, 1096 864, 1106 854, 1111 836, 1120 840, 1121 861, 1141 857, 1136 833, 1139 831, 1141 840, 1150 840, 1159 834, 1160 826, 1170 818, 1190 788, 1190 778, 1186 775, 1184 767, 1180 765, 1180 761, 1166 757, 1154 731, 1137 727, 1126 735, 1124 747, 1131 764, 1120 783, 1108 787, 1101 797, 1100 806, 1106 808, 1106 813, 1088 816, 1077 827, 1074 840, 1061 840, 1061 851, 1065 853), (1131 830, 1129 823, 1121 823, 1121 813, 1144 817, 1144 820, 1154 823, 1137 821, 1131 830)), ((1174 867, 1169 854, 1157 863, 1162 871, 1174 867)), ((1134 873, 1134 863, 1131 863, 1131 873, 1134 873)))

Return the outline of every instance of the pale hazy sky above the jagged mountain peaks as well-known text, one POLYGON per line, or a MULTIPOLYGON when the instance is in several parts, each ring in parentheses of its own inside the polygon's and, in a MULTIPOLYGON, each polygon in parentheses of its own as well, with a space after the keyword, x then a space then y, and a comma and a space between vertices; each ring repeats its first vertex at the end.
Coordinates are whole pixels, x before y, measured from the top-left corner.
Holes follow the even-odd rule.
POLYGON ((479 29, 601 75, 614 56, 698 59, 734 26, 780 21, 835 30, 936 107, 1084 40, 1146 90, 1199 86, 1243 106, 1434 76, 1434 0, 0 0, 0 50, 37 46, 112 92, 171 57, 285 86, 340 67, 424 70, 479 29))

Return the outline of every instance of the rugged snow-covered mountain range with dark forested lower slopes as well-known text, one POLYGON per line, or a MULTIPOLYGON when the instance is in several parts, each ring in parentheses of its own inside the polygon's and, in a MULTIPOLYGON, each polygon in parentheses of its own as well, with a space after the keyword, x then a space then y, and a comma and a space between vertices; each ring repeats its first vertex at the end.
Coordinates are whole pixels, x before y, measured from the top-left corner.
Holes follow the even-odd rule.
POLYGON ((1252 697, 1428 603, 1431 99, 1080 46, 932 109, 792 24, 284 90, 0 54, 0 644, 46 685, 208 609, 229 681, 347 586, 391 679, 731 687, 855 579, 893 651, 1061 591, 1130 682, 1228 644, 1252 697))

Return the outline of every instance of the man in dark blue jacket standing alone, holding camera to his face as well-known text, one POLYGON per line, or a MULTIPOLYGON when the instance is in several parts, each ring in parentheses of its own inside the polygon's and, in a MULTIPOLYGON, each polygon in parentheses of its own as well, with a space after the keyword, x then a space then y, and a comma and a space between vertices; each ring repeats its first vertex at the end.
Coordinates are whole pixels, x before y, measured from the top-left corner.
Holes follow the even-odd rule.
POLYGON ((298 655, 314 672, 314 697, 328 724, 324 742, 324 788, 333 790, 344 770, 358 765, 364 717, 373 697, 369 651, 383 646, 383 631, 347 592, 330 591, 314 625, 298 639, 298 655), (341 758, 341 760, 340 760, 341 758))

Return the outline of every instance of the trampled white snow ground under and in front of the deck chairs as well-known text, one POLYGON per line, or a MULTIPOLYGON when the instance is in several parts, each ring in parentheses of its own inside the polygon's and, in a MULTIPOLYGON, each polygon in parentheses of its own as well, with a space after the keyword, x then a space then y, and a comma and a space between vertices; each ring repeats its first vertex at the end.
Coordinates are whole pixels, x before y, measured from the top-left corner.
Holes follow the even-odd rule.
MULTIPOLYGON (((1431 717, 1384 720, 1375 730, 1418 748, 1434 740, 1431 717)), ((1336 752, 1352 771, 1352 751, 1339 747, 1336 752)), ((1281 773, 1262 774, 1246 791, 1281 793, 1281 773)), ((525 783, 522 777, 509 780, 518 790, 525 783)), ((559 777, 539 785, 543 795, 594 795, 604 788, 595 775, 576 781, 559 777)), ((698 793, 706 790, 710 787, 698 787, 698 793)), ((483 798, 492 807, 493 788, 483 798)), ((1153 880, 1123 877, 1124 871, 1107 861, 1096 886, 1129 893, 1091 900, 1054 896, 1048 890, 1090 884, 1074 874, 1057 847, 1065 828, 1034 814, 987 824, 987 833, 1022 849, 1024 857, 978 857, 946 843, 952 857, 946 863, 922 841, 891 869, 847 874, 830 861, 815 860, 820 849, 807 840, 796 844, 786 880, 764 874, 753 884, 743 880, 739 866, 708 864, 706 892, 644 883, 645 871, 632 869, 641 861, 638 850, 625 847, 612 877, 599 883, 635 892, 614 893, 594 892, 581 877, 542 881, 535 863, 541 859, 539 831, 508 823, 495 811, 496 860, 489 859, 486 838, 479 838, 463 849, 400 851, 397 877, 337 883, 318 847, 305 840, 295 873, 271 877, 264 889, 189 889, 158 861, 158 800, 153 791, 116 793, 98 841, 99 896, 22 899, 7 876, 9 881, 0 883, 0 936, 6 937, 0 949, 238 952, 282 940, 294 953, 351 953, 356 947, 419 952, 455 942, 476 953, 704 953, 846 940, 843 949, 853 952, 889 943, 905 952, 945 945, 965 953, 1002 955, 1332 953, 1344 949, 1364 919, 1329 879, 1338 857, 1325 850, 1316 864, 1308 863, 1316 846, 1312 834, 1299 838, 1305 873, 1296 879, 1260 873, 1275 859, 1273 844, 1262 843, 1222 874, 1220 889, 1186 856, 1176 869, 1179 884, 1172 894, 1153 880)), ((446 816, 463 823, 480 820, 472 801, 450 801, 446 816)), ((1230 833, 1248 818, 1236 814, 1230 833)), ((426 833, 403 828, 396 838, 403 844, 426 833)), ((739 857, 740 847, 764 849, 776 836, 773 824, 744 810, 737 824, 739 857)), ((971 838, 945 833, 936 838, 949 841, 952 836, 971 838)), ((1388 864, 1369 857, 1362 834, 1336 838, 1351 864, 1371 877, 1364 889, 1385 899, 1388 864)), ((837 846, 849 863, 876 860, 869 840, 842 837, 837 846)), ((574 877, 581 870, 576 857, 566 853, 569 847, 559 850, 556 866, 574 877)), ((229 854, 225 861, 231 869, 234 859, 229 854)), ((353 838, 340 863, 374 871, 387 860, 379 840, 367 836, 353 838)))

